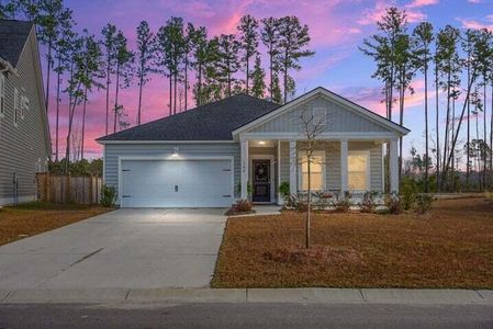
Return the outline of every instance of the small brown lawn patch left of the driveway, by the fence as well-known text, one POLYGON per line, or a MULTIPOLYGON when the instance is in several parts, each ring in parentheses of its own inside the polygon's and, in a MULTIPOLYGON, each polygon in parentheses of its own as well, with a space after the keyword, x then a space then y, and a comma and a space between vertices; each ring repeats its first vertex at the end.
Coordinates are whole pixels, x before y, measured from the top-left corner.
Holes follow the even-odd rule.
POLYGON ((27 203, 0 209, 0 246, 38 235, 89 217, 111 208, 101 206, 27 203))

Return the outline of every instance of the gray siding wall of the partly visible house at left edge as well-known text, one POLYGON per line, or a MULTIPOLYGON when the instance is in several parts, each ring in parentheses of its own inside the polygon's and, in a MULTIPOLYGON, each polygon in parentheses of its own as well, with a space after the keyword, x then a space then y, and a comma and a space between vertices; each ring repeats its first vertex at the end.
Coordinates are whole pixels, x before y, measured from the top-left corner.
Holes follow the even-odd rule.
POLYGON ((14 172, 19 201, 34 200, 38 160, 44 168, 49 156, 44 97, 38 84, 42 86, 42 81, 35 73, 38 66, 36 52, 35 35, 31 33, 16 66, 19 77, 12 73, 5 77, 5 109, 0 118, 0 204, 13 202, 14 172), (14 88, 20 97, 29 99, 29 110, 24 112, 24 118, 19 113, 18 126, 14 126, 14 88))

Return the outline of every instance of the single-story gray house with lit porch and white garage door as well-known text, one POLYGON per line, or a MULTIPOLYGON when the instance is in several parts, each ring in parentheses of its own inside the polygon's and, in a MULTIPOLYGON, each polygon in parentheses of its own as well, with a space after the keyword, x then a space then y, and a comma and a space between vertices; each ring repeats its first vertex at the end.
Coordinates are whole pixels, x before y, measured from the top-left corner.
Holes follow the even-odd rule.
POLYGON ((389 143, 397 191, 397 140, 410 131, 323 88, 284 105, 238 94, 99 138, 104 181, 122 207, 220 207, 239 197, 281 203, 281 182, 293 193, 307 189, 302 111, 326 120, 312 190, 382 191, 389 143))

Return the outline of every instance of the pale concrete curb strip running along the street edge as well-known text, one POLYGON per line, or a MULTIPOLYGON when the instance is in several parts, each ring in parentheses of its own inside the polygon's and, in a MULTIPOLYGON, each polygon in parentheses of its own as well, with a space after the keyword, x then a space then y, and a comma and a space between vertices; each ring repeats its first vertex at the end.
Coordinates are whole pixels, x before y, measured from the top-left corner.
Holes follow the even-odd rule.
POLYGON ((493 305, 493 291, 401 288, 97 288, 0 291, 0 304, 301 303, 493 305))

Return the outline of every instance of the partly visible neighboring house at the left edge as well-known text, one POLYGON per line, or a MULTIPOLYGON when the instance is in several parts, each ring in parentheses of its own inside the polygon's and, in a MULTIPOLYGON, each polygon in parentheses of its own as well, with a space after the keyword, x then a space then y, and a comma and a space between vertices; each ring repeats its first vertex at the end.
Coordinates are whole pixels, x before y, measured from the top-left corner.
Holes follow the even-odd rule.
POLYGON ((51 155, 33 23, 0 20, 0 205, 36 198, 51 155))

